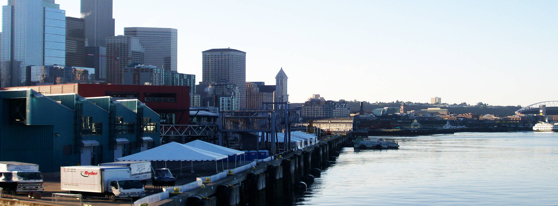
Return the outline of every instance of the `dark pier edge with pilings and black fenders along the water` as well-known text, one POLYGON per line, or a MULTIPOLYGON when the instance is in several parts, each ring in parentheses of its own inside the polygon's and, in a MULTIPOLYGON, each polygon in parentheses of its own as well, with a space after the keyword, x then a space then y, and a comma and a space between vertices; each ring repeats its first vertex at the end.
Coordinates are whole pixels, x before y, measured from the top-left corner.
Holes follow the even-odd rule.
MULTIPOLYGON (((310 179, 312 169, 323 170, 332 161, 335 152, 342 148, 346 137, 332 136, 319 144, 276 157, 270 162, 260 162, 254 168, 227 175, 205 187, 149 205, 283 205, 292 201, 294 185, 310 179), (310 176, 309 176, 310 175, 310 176), (198 195, 198 197, 195 197, 198 195), (199 198, 201 196, 205 198, 199 198)), ((333 158, 334 160, 335 158, 333 158)), ((317 170, 314 170, 317 171, 317 170)), ((311 177, 311 182, 314 177, 311 177)))

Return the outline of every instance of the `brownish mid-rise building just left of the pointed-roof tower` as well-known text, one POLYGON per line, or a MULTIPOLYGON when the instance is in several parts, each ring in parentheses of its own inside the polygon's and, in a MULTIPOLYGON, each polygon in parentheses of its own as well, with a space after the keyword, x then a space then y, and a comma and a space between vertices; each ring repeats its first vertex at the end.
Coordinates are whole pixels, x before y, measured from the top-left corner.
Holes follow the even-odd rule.
POLYGON ((276 102, 277 86, 264 82, 246 82, 246 108, 262 109, 263 102, 276 102))

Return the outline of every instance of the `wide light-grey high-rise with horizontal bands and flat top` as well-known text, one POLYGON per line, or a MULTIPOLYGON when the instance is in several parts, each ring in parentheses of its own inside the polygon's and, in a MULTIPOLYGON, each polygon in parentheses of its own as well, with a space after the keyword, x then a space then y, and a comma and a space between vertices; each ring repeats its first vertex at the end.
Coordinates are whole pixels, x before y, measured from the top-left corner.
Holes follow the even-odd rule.
POLYGON ((173 28, 124 28, 124 36, 137 37, 143 43, 146 65, 170 71, 177 71, 177 34, 173 28))

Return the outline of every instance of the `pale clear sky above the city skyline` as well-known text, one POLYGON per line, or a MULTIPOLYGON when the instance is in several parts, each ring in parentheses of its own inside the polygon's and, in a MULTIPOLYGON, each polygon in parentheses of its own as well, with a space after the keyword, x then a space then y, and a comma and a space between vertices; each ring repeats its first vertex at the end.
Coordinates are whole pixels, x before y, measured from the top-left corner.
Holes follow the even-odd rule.
MULTIPOLYGON (((0 1, 3 5, 6 0, 0 1)), ((79 17, 78 0, 56 0, 79 17)), ((529 105, 558 100, 558 1, 114 0, 124 27, 178 29, 178 71, 201 52, 246 52, 246 81, 291 103, 326 100, 529 105)))

